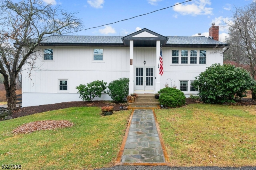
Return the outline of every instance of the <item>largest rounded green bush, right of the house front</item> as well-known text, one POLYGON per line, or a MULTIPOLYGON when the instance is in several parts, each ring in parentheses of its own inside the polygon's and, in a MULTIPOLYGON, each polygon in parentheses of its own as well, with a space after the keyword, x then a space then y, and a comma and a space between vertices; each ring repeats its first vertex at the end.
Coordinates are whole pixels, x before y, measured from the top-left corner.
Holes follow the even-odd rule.
POLYGON ((193 86, 205 103, 235 102, 255 86, 250 73, 231 64, 212 64, 195 78, 193 86))

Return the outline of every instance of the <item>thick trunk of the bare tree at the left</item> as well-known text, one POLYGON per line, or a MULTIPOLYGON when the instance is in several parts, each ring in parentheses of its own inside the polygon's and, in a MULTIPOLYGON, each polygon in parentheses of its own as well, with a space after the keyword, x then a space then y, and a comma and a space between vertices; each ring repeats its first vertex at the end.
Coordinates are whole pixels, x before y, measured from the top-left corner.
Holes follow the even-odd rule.
POLYGON ((10 81, 10 85, 7 84, 4 81, 4 86, 5 86, 5 96, 7 100, 7 108, 9 110, 16 110, 16 83, 15 81, 10 81))

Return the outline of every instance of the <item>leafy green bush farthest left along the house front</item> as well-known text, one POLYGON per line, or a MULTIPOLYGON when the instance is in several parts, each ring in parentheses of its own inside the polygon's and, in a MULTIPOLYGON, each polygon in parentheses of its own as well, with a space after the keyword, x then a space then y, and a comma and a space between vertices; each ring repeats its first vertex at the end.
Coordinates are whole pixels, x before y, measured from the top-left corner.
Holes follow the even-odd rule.
POLYGON ((105 92, 107 89, 107 83, 96 80, 91 83, 87 83, 87 85, 79 85, 76 87, 78 90, 77 93, 80 93, 79 98, 82 98, 83 101, 92 101, 95 97, 101 97, 101 93, 105 92))

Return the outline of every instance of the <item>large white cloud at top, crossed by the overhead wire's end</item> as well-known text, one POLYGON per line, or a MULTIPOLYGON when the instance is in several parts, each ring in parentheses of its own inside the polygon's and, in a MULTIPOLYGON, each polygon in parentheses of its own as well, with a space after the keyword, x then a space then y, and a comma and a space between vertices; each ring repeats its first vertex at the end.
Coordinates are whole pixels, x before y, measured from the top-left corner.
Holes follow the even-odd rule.
MULTIPOLYGON (((195 0, 192 4, 179 4, 173 8, 174 11, 179 12, 182 15, 212 15, 213 8, 206 7, 211 5, 211 0, 195 0)), ((178 4, 178 3, 176 3, 178 4)))

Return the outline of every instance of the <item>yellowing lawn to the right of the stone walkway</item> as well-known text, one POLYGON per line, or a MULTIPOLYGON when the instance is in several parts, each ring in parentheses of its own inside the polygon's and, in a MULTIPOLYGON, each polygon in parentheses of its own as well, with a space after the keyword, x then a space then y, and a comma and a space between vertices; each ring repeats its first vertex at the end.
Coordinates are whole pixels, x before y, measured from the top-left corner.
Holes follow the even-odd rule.
POLYGON ((256 105, 155 112, 172 166, 256 166, 256 105))

